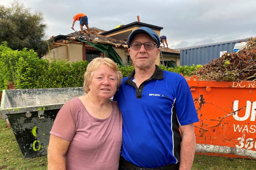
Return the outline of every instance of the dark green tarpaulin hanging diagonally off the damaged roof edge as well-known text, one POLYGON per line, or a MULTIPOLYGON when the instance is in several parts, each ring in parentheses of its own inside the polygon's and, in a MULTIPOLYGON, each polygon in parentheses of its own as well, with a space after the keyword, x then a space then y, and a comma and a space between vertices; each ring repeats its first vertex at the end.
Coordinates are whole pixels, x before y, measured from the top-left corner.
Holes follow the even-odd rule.
POLYGON ((113 48, 112 45, 108 45, 108 44, 99 44, 99 43, 93 43, 90 41, 86 41, 83 39, 82 36, 80 36, 78 38, 79 41, 81 42, 85 42, 88 43, 89 45, 93 46, 94 48, 96 48, 97 50, 101 51, 102 53, 105 53, 108 55, 108 58, 112 59, 114 62, 116 62, 117 64, 120 64, 121 66, 124 65, 123 60, 121 59, 121 57, 117 54, 116 50, 113 48))

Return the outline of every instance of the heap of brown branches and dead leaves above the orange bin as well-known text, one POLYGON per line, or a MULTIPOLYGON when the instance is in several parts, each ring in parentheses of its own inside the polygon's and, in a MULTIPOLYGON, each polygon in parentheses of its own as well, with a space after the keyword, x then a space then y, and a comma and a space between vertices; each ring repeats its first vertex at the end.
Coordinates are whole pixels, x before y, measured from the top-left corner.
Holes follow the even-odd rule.
POLYGON ((199 80, 256 81, 256 38, 237 52, 225 53, 192 72, 199 80))

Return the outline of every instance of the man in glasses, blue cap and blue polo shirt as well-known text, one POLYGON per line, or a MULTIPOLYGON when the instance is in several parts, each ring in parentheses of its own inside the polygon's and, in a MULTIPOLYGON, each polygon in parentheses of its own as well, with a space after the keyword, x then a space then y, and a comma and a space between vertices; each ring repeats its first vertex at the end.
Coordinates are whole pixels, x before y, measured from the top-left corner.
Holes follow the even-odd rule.
POLYGON ((134 30, 127 44, 135 70, 114 97, 123 117, 119 170, 191 169, 199 120, 185 78, 155 65, 160 38, 150 28, 134 30))

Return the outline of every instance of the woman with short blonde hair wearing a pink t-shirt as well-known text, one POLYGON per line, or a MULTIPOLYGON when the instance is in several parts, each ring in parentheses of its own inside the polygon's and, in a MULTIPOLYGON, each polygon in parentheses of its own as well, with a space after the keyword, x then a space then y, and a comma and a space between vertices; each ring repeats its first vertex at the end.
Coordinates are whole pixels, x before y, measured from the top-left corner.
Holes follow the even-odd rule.
POLYGON ((117 170, 122 115, 110 98, 122 82, 109 58, 95 58, 84 74, 86 95, 65 103, 50 131, 48 170, 117 170))

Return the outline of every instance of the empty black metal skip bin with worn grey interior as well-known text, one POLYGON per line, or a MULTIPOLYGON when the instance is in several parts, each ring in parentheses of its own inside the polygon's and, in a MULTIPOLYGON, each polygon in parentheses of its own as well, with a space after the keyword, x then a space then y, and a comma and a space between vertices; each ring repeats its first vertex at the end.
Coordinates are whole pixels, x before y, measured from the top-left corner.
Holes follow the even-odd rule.
POLYGON ((47 155, 58 111, 67 101, 84 94, 82 87, 3 90, 1 119, 10 122, 24 158, 47 155))

